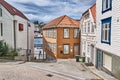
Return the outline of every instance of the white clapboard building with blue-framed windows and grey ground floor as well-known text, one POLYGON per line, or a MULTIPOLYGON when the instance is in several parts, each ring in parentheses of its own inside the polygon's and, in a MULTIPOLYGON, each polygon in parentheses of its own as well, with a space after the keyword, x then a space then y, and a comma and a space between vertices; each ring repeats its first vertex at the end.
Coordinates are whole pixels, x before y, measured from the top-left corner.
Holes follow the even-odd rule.
POLYGON ((120 0, 97 0, 96 66, 120 79, 120 0))

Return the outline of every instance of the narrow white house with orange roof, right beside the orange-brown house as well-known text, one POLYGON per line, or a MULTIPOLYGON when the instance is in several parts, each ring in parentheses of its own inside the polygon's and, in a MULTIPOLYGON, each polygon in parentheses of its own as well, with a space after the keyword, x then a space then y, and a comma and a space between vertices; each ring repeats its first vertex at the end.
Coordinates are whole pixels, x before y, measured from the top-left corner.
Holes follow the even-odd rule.
POLYGON ((81 18, 81 55, 86 62, 95 64, 96 4, 87 9, 81 18))

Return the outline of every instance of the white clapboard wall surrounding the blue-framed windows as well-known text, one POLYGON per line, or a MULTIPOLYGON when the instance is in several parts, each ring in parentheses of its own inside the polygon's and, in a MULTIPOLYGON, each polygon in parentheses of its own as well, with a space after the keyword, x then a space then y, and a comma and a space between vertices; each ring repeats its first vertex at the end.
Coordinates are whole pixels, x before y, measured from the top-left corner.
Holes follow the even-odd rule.
POLYGON ((112 10, 102 14, 102 0, 96 1, 97 10, 97 45, 96 47, 106 52, 120 56, 120 1, 112 0, 112 10), (101 19, 112 17, 111 45, 101 43, 101 19), (117 22, 117 20, 119 20, 117 22))

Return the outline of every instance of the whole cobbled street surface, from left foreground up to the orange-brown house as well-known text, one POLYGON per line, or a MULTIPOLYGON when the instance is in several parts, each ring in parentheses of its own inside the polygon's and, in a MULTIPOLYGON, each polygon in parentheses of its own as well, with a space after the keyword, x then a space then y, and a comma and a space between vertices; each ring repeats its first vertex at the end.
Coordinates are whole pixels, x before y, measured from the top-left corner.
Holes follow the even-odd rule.
POLYGON ((56 63, 0 64, 0 80, 101 80, 72 59, 56 63))

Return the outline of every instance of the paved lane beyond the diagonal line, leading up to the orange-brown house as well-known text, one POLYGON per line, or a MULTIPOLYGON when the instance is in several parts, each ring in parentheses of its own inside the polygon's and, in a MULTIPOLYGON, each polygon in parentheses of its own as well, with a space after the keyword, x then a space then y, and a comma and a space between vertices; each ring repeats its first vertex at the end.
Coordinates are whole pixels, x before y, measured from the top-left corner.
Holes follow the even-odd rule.
POLYGON ((69 77, 72 80, 101 80, 101 78, 75 59, 60 59, 56 63, 26 63, 25 65, 33 68, 49 71, 64 77, 69 77))

